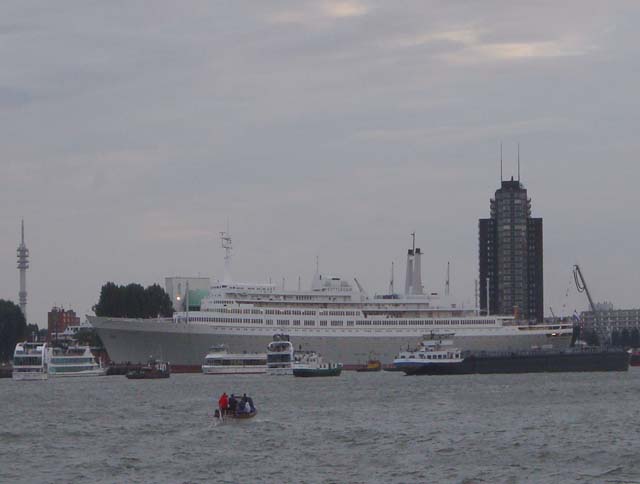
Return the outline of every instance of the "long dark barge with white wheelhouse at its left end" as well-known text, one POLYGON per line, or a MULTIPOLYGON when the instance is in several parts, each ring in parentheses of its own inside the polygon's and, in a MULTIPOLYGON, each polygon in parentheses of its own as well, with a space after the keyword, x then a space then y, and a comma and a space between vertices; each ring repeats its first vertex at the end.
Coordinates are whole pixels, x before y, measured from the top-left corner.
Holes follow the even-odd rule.
POLYGON ((565 350, 472 353, 452 347, 448 335, 432 334, 420 348, 405 351, 393 361, 407 375, 468 375, 473 373, 540 373, 627 371, 629 354, 623 349, 574 347, 565 350))

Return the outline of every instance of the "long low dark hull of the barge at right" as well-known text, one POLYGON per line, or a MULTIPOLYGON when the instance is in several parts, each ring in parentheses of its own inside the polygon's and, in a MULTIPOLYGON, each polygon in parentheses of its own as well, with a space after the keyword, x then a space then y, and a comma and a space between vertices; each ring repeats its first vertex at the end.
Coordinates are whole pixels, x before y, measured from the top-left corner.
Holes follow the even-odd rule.
POLYGON ((452 363, 396 362, 407 375, 469 375, 474 373, 556 373, 627 371, 629 356, 624 351, 541 352, 469 356, 452 363))

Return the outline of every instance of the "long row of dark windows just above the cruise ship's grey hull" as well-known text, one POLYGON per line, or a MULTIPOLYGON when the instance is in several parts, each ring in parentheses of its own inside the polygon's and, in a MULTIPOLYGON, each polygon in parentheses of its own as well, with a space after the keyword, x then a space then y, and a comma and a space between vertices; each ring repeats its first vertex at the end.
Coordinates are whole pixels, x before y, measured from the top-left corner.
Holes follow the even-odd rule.
POLYGON ((431 326, 431 325, 460 325, 460 324, 493 324, 492 320, 483 320, 483 319, 473 319, 469 321, 458 321, 454 319, 446 319, 446 320, 426 320, 420 319, 415 321, 397 321, 397 320, 357 320, 357 321, 319 321, 319 324, 316 324, 316 321, 313 320, 288 320, 288 319, 248 319, 248 318, 209 318, 196 316, 193 318, 189 318, 189 321, 199 322, 199 323, 245 323, 245 324, 266 324, 273 325, 274 323, 277 326, 431 326))

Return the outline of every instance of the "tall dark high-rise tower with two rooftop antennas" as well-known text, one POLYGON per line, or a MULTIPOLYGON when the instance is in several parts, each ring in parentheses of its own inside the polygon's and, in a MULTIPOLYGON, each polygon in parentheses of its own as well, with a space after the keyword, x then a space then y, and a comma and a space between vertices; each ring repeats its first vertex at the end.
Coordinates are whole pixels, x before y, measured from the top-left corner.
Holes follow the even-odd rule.
POLYGON ((542 321, 542 218, 531 217, 519 176, 501 180, 490 208, 490 217, 479 220, 480 308, 542 321))

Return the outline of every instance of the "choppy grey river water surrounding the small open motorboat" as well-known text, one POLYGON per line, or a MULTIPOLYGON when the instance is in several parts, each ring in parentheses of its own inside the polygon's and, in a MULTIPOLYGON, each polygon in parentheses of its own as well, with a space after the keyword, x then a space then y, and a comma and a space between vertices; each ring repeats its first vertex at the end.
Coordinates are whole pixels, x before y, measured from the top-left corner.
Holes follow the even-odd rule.
POLYGON ((0 380, 0 482, 640 482, 640 369, 0 380), (223 392, 259 414, 218 425, 223 392))

